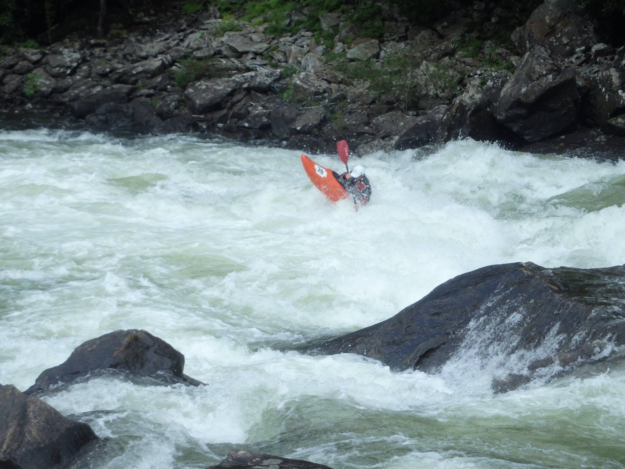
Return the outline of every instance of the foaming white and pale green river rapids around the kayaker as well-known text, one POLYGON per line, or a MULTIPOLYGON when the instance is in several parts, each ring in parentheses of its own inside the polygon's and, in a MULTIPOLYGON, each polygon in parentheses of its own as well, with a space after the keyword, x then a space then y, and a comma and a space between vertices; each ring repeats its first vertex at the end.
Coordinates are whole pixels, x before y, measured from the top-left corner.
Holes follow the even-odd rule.
POLYGON ((204 468, 231 448, 336 469, 625 467, 623 361, 494 395, 492 376, 514 363, 467 351, 427 375, 296 350, 481 266, 624 263, 625 162, 471 140, 376 153, 358 161, 373 195, 354 211, 326 201, 299 154, 0 133, 0 383, 25 390, 84 341, 129 328, 168 341, 207 383, 101 377, 45 396, 103 438, 76 468, 204 468))

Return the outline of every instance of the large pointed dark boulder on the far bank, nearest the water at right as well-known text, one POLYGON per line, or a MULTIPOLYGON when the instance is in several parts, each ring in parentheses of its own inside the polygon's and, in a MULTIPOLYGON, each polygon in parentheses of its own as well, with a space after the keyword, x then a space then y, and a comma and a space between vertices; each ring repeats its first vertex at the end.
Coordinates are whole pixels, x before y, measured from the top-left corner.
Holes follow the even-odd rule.
POLYGON ((499 95, 497 121, 527 142, 569 127, 579 107, 575 70, 545 46, 532 46, 499 95))

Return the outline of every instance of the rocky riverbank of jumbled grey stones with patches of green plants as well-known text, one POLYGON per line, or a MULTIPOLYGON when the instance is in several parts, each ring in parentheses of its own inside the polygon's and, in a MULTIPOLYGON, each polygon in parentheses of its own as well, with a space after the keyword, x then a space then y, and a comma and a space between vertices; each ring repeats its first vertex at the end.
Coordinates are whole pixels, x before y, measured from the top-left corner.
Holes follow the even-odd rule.
POLYGON ((5 49, 0 103, 99 130, 201 132, 311 153, 341 138, 362 156, 470 137, 625 158, 625 48, 602 43, 571 1, 531 14, 514 5, 476 1, 432 27, 386 8, 381 38, 321 14, 322 33, 336 32, 330 46, 305 29, 278 36, 262 21, 225 21, 216 8, 142 16, 123 37, 5 49), (511 38, 495 34, 501 24, 517 25, 511 38))

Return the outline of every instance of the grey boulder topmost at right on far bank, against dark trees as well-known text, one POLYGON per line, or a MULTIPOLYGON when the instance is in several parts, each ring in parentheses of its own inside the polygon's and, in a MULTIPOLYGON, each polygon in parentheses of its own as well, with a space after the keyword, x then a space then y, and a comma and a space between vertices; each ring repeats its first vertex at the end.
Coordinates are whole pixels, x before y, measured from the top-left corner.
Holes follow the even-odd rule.
POLYGON ((521 54, 542 44, 562 57, 599 42, 594 24, 572 0, 546 0, 512 36, 521 54))

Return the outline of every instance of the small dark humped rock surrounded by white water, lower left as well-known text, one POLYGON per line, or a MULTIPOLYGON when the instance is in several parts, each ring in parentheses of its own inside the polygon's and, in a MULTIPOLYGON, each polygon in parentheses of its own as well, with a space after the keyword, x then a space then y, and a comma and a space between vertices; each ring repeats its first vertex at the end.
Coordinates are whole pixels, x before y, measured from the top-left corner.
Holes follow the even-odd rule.
POLYGON ((145 330, 119 330, 78 346, 64 363, 43 371, 26 393, 47 390, 58 383, 71 383, 104 370, 153 378, 166 385, 202 384, 184 375, 183 369, 184 355, 166 341, 145 330))

